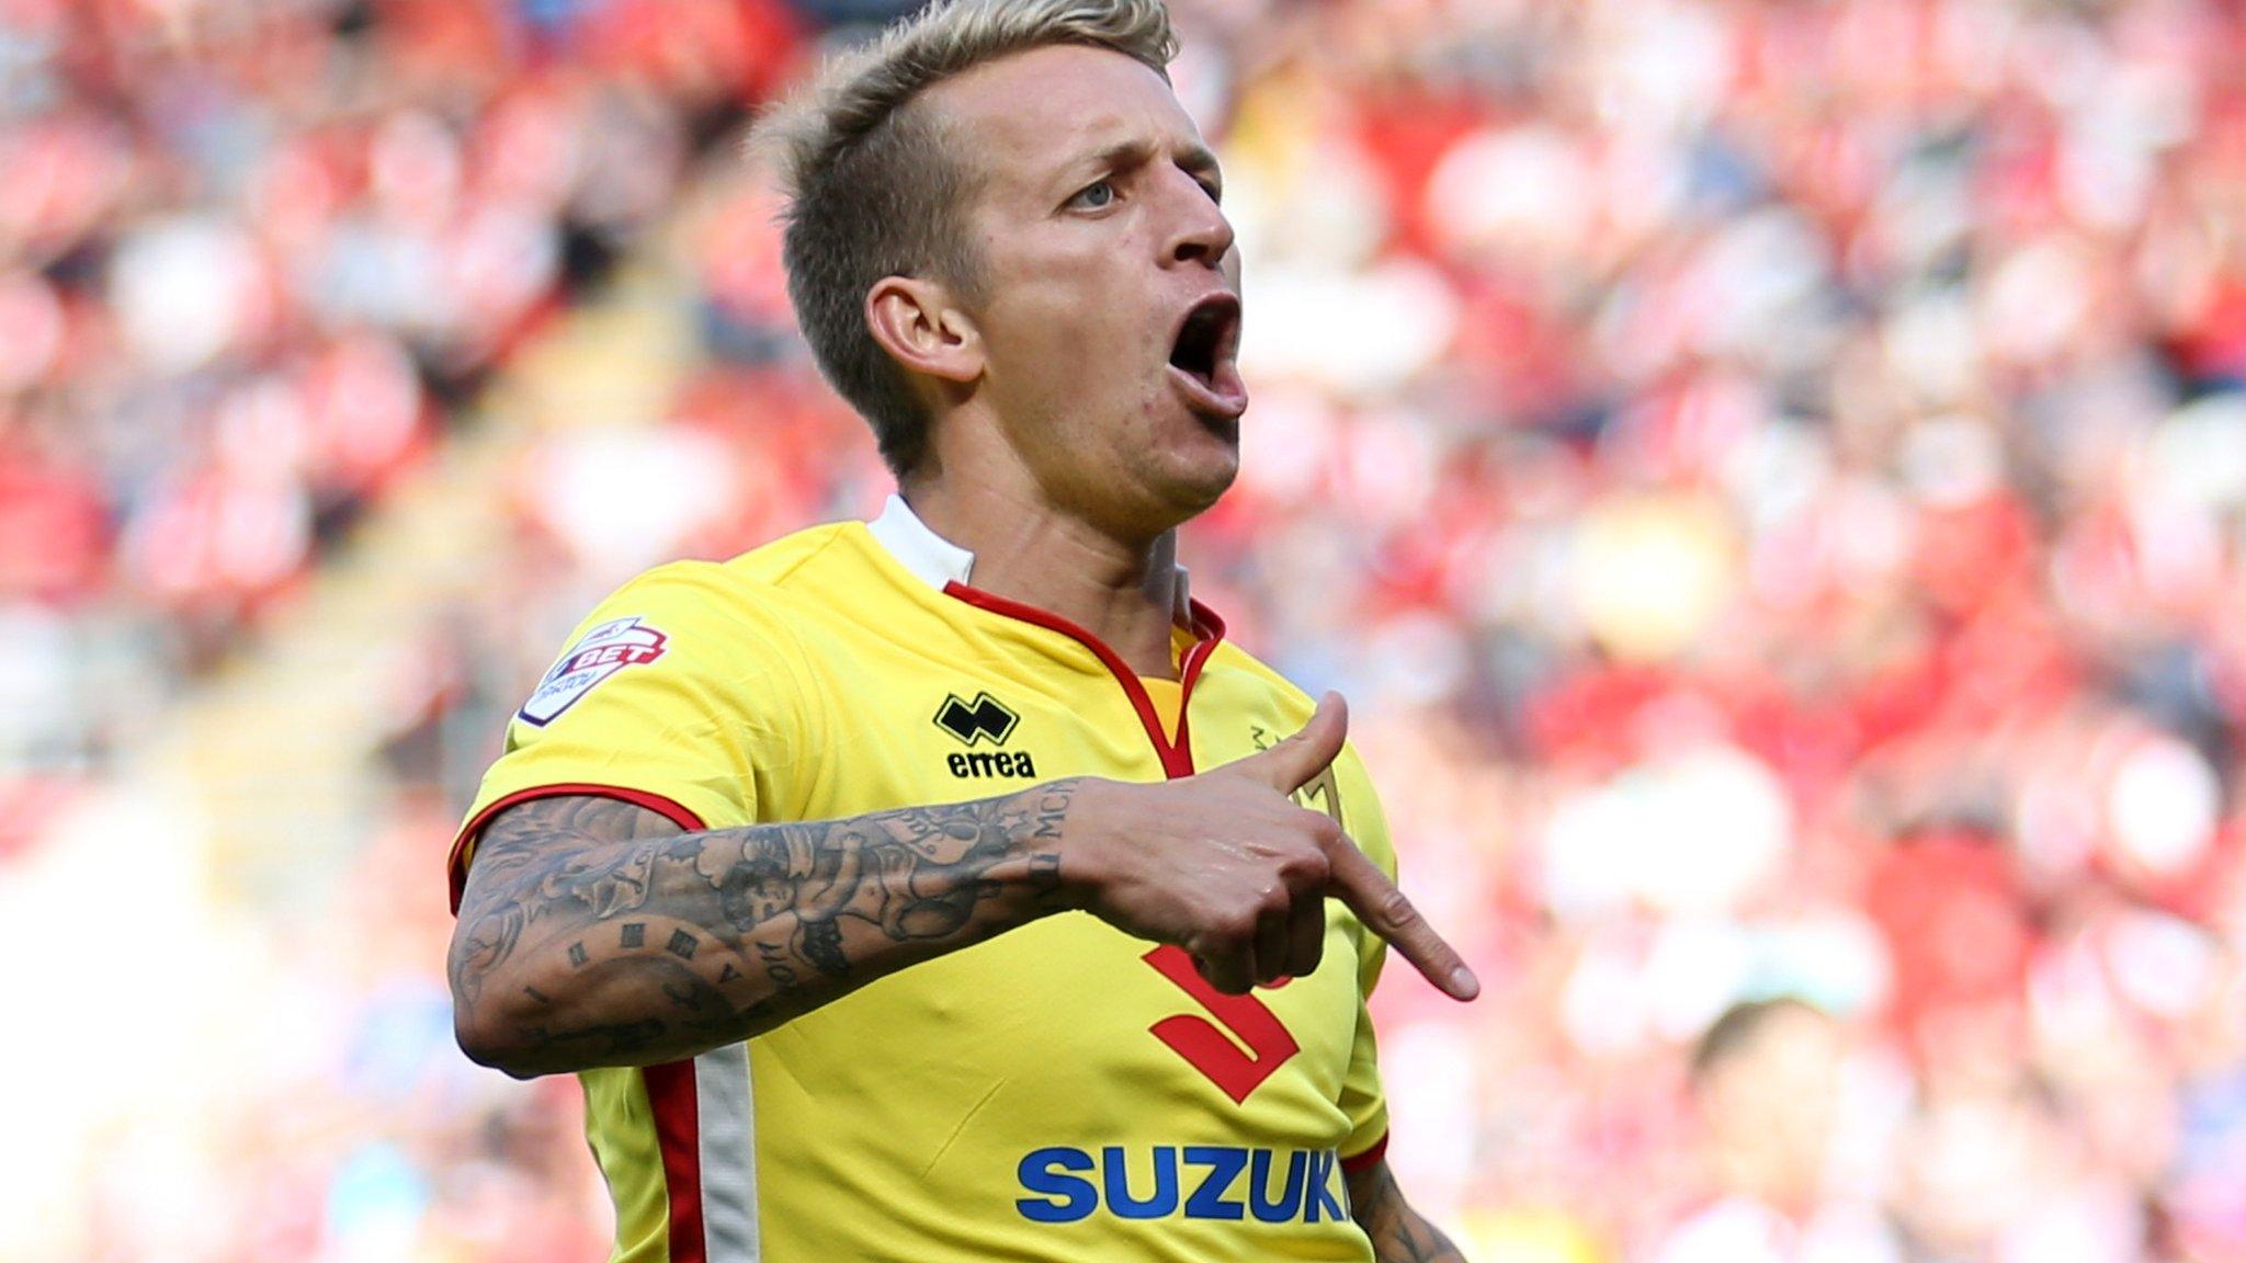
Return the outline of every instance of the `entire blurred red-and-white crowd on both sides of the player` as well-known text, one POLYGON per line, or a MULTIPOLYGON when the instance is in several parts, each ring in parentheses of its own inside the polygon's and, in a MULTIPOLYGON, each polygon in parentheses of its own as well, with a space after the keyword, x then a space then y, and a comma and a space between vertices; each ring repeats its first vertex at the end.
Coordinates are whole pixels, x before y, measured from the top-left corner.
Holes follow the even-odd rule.
MULTIPOLYGON (((0 0, 0 802, 254 654, 618 258, 699 339, 492 488, 200 1236, 117 1227, 124 1128, 74 1256, 600 1256, 568 1083, 449 1047, 442 852, 602 591, 878 506, 739 139, 885 11, 0 0)), ((1487 987, 1375 1002, 1413 1198, 1523 1263, 2246 1259, 2246 13, 1177 11, 1256 393, 1195 593, 1348 692, 1487 987)))

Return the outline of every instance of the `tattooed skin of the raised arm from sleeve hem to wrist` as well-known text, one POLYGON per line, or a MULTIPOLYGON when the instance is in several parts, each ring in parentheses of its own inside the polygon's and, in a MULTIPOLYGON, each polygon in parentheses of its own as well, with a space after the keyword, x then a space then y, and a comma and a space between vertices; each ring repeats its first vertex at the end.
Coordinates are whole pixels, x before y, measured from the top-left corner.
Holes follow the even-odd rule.
POLYGON ((510 1074, 721 1047, 1062 908, 1076 782, 685 834, 611 798, 494 818, 451 939, 463 1047, 510 1074))

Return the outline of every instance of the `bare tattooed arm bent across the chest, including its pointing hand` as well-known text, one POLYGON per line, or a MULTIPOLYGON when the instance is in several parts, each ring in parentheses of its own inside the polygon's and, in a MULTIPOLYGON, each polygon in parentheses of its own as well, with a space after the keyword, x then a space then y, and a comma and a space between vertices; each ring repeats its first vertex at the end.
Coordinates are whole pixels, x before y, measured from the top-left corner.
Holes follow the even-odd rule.
POLYGON ((1467 1000, 1458 953, 1332 816, 1287 800, 1345 726, 1334 699, 1202 775, 847 820, 683 834, 606 798, 519 802, 467 870, 456 1036, 519 1076, 676 1061, 1065 908, 1177 944, 1242 993, 1318 966, 1327 894, 1467 1000))

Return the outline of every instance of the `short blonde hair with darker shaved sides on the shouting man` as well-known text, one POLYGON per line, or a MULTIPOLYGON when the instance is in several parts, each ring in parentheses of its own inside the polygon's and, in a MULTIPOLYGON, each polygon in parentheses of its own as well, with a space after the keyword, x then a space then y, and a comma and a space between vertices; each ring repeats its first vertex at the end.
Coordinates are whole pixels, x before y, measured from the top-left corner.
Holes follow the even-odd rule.
POLYGON ((1161 0, 941 0, 829 61, 752 139, 775 153, 788 191, 782 263, 795 319, 898 476, 921 463, 930 418, 874 342, 865 294, 883 276, 930 276, 968 294, 982 281, 961 222, 975 182, 959 137, 912 106, 966 70, 1049 45, 1112 49, 1163 81, 1177 56, 1161 0))

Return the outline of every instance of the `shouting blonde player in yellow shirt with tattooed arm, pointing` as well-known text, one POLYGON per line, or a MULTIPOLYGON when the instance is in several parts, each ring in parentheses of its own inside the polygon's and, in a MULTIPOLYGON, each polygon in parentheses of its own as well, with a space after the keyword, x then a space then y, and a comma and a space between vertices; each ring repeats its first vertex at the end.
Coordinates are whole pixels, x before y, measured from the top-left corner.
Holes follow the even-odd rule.
POLYGON ((460 1045, 577 1072, 615 1259, 1455 1259, 1388 1175, 1341 701, 1186 598, 1247 393, 1157 0, 964 0, 773 126, 901 494, 640 575, 454 849, 460 1045))

